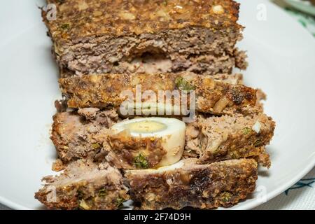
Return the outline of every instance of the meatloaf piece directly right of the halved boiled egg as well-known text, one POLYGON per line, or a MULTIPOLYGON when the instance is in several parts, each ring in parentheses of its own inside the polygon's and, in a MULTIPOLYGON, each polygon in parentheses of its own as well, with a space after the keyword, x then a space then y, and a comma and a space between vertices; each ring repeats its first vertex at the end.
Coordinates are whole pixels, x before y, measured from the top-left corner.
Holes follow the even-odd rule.
POLYGON ((261 155, 265 153, 263 146, 268 145, 274 135, 274 127, 272 118, 262 113, 253 116, 199 116, 186 128, 183 156, 199 158, 199 163, 209 163, 261 155))

